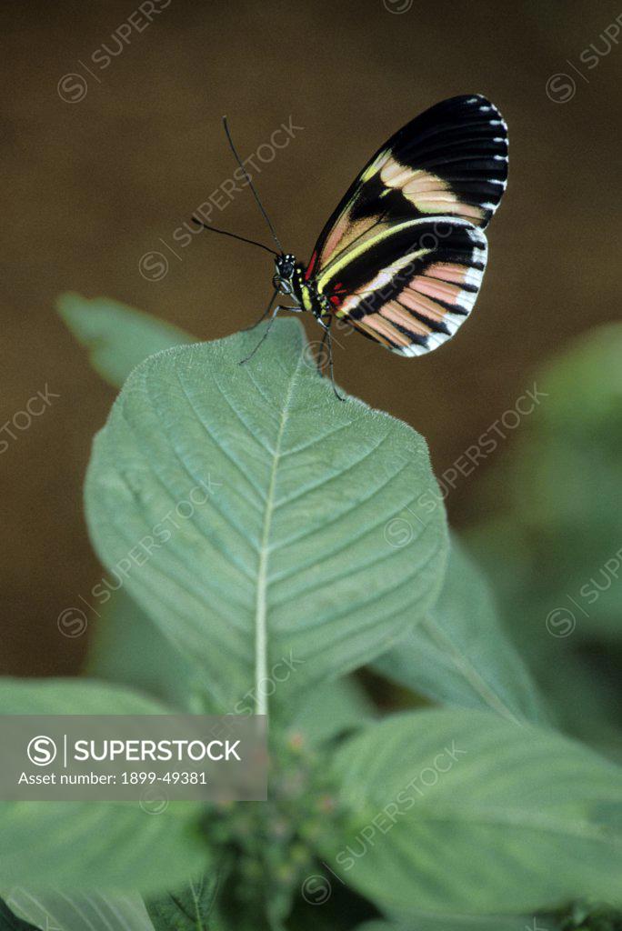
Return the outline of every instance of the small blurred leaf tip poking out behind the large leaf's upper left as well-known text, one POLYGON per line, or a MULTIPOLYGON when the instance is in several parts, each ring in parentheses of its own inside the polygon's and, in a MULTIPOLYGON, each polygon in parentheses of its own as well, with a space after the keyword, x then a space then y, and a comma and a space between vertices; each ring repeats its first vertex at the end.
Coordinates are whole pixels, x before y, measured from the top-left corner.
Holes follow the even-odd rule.
POLYGON ((57 307, 78 343, 88 349, 95 371, 115 388, 123 385, 142 359, 171 346, 196 342, 164 320, 107 297, 88 300, 79 294, 61 294, 57 307))

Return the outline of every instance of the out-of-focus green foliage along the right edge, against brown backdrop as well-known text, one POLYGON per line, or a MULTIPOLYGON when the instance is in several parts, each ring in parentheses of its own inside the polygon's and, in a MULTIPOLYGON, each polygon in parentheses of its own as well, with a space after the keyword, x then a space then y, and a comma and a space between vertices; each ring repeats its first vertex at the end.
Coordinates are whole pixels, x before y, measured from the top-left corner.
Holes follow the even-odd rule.
POLYGON ((588 332, 536 375, 546 395, 485 473, 467 543, 556 720, 619 758, 622 325, 588 332))

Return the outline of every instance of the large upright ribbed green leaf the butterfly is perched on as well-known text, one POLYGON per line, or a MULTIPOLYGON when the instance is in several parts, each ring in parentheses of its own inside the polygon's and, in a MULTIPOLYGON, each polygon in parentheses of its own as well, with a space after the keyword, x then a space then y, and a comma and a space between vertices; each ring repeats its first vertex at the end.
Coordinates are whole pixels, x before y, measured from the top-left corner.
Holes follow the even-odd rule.
POLYGON ((334 398, 296 320, 240 367, 262 332, 144 361, 87 478, 101 560, 238 713, 382 653, 435 600, 447 550, 442 508, 419 504, 439 493, 424 440, 334 398))

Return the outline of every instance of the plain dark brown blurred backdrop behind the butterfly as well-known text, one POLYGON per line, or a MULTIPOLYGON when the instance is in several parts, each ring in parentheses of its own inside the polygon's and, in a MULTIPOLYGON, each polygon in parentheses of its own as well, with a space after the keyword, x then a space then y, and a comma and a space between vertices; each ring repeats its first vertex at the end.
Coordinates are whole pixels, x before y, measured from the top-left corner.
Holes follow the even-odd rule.
MULTIPOLYGON (((61 637, 57 617, 101 573, 81 485, 113 393, 55 316, 59 292, 106 294, 204 339, 248 324, 269 293, 267 256, 218 236, 196 238, 180 261, 169 254, 159 281, 139 274, 159 237, 174 246, 173 230, 231 177, 223 113, 244 155, 290 115, 304 127, 258 179, 301 257, 345 185, 412 115, 480 91, 506 116, 510 184, 473 319, 418 360, 357 336, 337 351, 342 384, 425 434, 437 470, 513 406, 539 360, 617 316, 622 49, 605 55, 602 33, 619 4, 385 4, 171 0, 100 70, 91 56, 116 48, 111 35, 140 3, 5 3, 1 423, 45 385, 61 398, 0 456, 2 671, 74 670, 85 638, 61 637), (592 42, 602 57, 590 70, 579 55, 592 42), (546 92, 560 72, 575 80, 565 102, 546 92), (87 81, 77 92, 73 82, 74 94, 86 89, 77 102, 58 92, 69 73, 87 81)), ((218 219, 267 239, 248 192, 218 219)), ((458 522, 476 517, 475 480, 450 497, 458 522)))

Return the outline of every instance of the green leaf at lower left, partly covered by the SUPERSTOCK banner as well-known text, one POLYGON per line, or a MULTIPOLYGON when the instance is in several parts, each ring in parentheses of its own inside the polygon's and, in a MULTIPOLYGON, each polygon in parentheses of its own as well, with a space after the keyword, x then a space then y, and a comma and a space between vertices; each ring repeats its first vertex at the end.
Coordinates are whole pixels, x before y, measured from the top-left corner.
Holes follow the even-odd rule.
MULTIPOLYGON (((3 714, 169 714, 142 696, 99 682, 0 680, 3 714)), ((0 803, 0 878, 63 889, 161 889, 206 867, 196 827, 201 808, 170 803, 0 803)))

